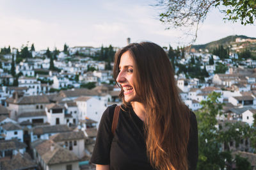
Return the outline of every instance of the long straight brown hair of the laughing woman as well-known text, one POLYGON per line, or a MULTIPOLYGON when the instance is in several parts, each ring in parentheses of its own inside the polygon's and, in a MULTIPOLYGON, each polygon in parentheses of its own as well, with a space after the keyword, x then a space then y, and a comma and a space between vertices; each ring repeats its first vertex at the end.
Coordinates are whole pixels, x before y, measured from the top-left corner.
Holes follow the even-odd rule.
MULTIPOLYGON (((131 43, 115 54, 116 79, 124 52, 134 59, 134 89, 145 104, 147 155, 156 169, 188 169, 189 109, 180 100, 166 52, 152 42, 131 43)), ((124 101, 124 91, 120 93, 124 101)))

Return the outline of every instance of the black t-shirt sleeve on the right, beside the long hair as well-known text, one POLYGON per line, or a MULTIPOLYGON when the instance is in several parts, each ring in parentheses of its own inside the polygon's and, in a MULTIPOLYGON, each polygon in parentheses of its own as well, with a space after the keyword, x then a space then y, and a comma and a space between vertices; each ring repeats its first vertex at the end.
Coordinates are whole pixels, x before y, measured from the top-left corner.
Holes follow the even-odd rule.
POLYGON ((198 160, 198 130, 194 112, 190 116, 189 142, 188 142, 188 163, 189 170, 196 169, 198 160))

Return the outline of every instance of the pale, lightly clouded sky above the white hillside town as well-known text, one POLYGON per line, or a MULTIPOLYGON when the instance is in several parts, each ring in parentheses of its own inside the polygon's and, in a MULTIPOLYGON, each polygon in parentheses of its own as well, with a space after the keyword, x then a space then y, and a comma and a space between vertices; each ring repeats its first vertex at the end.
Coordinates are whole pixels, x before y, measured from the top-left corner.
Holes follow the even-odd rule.
MULTIPOLYGON (((0 0, 0 47, 35 45, 36 50, 68 47, 124 47, 150 41, 172 47, 189 45, 184 31, 166 29, 159 21, 156 0, 0 0)), ((230 35, 256 37, 256 26, 224 22, 212 9, 198 29, 194 44, 209 43, 230 35)))

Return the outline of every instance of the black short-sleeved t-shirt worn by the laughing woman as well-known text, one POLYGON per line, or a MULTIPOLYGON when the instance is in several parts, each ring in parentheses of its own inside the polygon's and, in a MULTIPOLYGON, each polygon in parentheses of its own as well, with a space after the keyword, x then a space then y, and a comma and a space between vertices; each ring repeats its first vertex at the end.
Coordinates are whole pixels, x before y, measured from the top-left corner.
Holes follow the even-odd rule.
MULTIPOLYGON (((111 170, 154 169, 147 158, 143 121, 133 109, 120 109, 115 136, 111 132, 116 105, 102 114, 91 162, 109 165, 111 170)), ((196 117, 191 112, 188 144, 189 169, 196 169, 198 159, 198 134, 196 117)))

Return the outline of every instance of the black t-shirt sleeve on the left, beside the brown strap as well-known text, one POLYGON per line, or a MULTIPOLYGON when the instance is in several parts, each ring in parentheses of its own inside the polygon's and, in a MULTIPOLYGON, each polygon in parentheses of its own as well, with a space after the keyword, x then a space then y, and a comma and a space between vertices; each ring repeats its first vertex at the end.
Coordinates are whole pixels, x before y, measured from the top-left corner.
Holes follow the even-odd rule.
POLYGON ((102 114, 91 162, 93 164, 108 165, 110 148, 113 139, 111 132, 113 113, 116 105, 109 106, 102 114))

